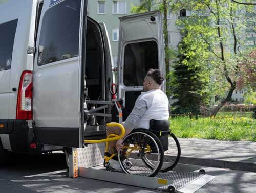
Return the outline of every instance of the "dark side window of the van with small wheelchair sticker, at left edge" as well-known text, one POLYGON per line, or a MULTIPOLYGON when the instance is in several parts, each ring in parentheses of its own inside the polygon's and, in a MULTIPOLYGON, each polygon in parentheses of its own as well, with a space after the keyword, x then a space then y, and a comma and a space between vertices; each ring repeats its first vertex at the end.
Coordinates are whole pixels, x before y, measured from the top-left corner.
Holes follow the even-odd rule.
POLYGON ((18 19, 0 24, 0 71, 11 69, 18 19))

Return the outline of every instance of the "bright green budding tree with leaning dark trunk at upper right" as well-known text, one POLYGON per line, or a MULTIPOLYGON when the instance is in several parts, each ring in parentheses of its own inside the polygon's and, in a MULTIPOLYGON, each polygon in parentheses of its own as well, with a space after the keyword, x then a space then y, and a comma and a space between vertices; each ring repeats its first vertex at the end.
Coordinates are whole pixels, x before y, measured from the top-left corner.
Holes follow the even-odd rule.
POLYGON ((187 53, 194 56, 205 52, 204 58, 202 56, 187 61, 188 66, 208 63, 216 80, 217 87, 213 89, 225 93, 225 97, 220 99, 212 111, 212 115, 216 115, 222 106, 231 101, 241 77, 241 64, 249 50, 246 49, 243 37, 248 23, 253 24, 253 5, 242 5, 233 0, 172 1, 173 11, 178 12, 184 8, 194 10, 190 17, 177 23, 184 25, 184 30, 187 31, 187 36, 184 37, 184 41, 190 45, 187 53), (218 85, 220 82, 221 85, 218 85))

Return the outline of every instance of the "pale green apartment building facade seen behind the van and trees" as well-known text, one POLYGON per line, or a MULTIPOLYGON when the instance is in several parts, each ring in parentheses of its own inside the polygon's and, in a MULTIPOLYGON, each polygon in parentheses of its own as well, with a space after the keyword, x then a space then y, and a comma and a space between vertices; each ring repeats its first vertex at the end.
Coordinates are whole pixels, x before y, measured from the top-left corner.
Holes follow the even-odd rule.
MULTIPOLYGON (((0 4, 9 0, 0 0, 0 4)), ((19 0, 17 0, 19 1, 19 0)), ((117 66, 118 53, 118 37, 119 37, 119 17, 133 14, 131 12, 132 6, 138 6, 140 0, 88 0, 88 16, 97 22, 104 22, 108 30, 114 66, 117 66)), ((181 10, 178 14, 172 13, 168 10, 167 24, 168 24, 168 45, 174 50, 178 50, 178 44, 181 41, 182 27, 176 25, 177 19, 186 19, 191 15, 189 10, 181 10)), ((255 23, 253 24, 255 25, 255 23)), ((253 30, 247 30, 245 33, 247 45, 256 45, 256 35, 253 30)), ((234 91, 232 95, 233 101, 243 102, 242 90, 234 91), (236 93, 237 92, 237 93, 236 93), (240 92, 240 93, 239 93, 240 92)))

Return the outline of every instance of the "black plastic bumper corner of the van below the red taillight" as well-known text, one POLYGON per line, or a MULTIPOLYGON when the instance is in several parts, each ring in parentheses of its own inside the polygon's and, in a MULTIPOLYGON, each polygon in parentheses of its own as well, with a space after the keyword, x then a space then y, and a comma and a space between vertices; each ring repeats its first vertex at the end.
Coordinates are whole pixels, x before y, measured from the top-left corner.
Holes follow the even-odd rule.
POLYGON ((28 131, 25 120, 0 119, 0 135, 9 135, 9 144, 5 144, 7 140, 2 141, 5 149, 11 147, 13 152, 26 152, 29 147, 28 131))

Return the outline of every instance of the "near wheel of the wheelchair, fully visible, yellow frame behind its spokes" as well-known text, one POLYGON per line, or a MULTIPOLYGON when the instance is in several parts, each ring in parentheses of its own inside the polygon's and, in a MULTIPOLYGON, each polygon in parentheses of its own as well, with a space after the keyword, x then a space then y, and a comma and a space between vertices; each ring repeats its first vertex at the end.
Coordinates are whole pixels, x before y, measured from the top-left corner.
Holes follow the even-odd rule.
POLYGON ((163 147, 155 134, 146 129, 135 129, 123 139, 123 150, 118 152, 118 160, 126 174, 154 177, 163 164, 163 147), (154 155, 154 161, 148 156, 154 155), (147 162, 154 162, 148 167, 147 162))

